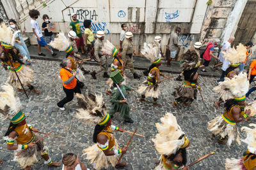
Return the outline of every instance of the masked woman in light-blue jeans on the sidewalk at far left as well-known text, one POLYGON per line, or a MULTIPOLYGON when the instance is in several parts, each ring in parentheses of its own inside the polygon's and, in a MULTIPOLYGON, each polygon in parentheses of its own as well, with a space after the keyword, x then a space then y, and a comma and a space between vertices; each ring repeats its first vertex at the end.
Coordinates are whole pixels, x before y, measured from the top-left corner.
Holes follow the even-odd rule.
MULTIPOLYGON (((26 57, 28 57, 28 60, 31 60, 29 51, 28 51, 28 47, 26 46, 26 43, 24 42, 24 40, 22 38, 22 35, 26 31, 26 27, 24 27, 22 32, 20 32, 17 29, 17 22, 13 19, 9 20, 9 25, 12 28, 13 36, 15 36, 15 43, 14 43, 15 48, 17 48, 17 50, 19 50, 21 55, 26 56, 26 57)), ((30 64, 30 62, 26 61, 26 64, 30 64)))

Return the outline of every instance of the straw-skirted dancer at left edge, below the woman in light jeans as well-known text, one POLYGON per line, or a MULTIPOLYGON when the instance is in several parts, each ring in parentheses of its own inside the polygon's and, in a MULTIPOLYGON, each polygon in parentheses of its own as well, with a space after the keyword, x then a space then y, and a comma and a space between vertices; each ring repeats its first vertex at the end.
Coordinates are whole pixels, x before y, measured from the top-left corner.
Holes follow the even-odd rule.
POLYGON ((40 90, 36 90, 35 87, 31 85, 34 71, 31 68, 24 66, 24 62, 22 62, 20 58, 24 61, 30 61, 26 56, 22 56, 19 51, 13 48, 12 45, 15 42, 15 36, 13 36, 12 29, 7 27, 5 24, 0 26, 0 41, 3 48, 3 52, 0 57, 2 60, 2 66, 5 69, 10 70, 8 81, 13 85, 13 87, 17 88, 18 91, 22 91, 22 85, 27 85, 29 90, 33 90, 36 94, 40 93, 40 90), (17 74, 15 74, 15 72, 17 74), (17 76, 19 76, 19 78, 17 76), (19 79, 22 85, 20 84, 19 79))

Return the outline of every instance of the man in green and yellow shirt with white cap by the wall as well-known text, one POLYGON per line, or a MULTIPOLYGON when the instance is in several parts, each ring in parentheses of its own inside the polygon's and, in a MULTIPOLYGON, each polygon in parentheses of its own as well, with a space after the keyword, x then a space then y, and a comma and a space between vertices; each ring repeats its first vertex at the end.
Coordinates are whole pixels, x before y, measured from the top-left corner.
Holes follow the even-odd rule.
POLYGON ((71 31, 76 32, 76 46, 77 48, 81 49, 81 53, 84 54, 84 39, 82 35, 82 31, 79 25, 79 20, 77 20, 77 15, 76 13, 71 13, 71 22, 69 24, 69 29, 71 31))

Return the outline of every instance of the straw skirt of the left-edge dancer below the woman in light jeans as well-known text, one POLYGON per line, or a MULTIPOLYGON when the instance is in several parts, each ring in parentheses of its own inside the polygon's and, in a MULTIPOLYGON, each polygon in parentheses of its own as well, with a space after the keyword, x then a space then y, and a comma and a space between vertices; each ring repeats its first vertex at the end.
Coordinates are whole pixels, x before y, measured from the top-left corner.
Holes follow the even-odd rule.
MULTIPOLYGON (((33 81, 34 71, 29 67, 22 65, 22 69, 20 69, 20 71, 17 71, 16 73, 18 74, 22 85, 28 85, 28 83, 33 81)), ((22 86, 20 85, 20 81, 17 78, 17 75, 15 74, 15 72, 13 71, 9 72, 8 81, 13 85, 13 87, 22 89, 22 86)))

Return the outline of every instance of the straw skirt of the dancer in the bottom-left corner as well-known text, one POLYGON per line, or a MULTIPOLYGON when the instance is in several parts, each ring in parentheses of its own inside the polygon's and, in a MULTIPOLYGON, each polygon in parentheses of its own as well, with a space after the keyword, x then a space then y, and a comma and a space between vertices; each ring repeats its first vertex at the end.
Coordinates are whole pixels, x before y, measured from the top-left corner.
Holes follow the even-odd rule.
MULTIPOLYGON (((36 136, 35 141, 39 139, 39 136, 36 136)), ((20 151, 14 151, 14 160, 19 162, 20 167, 23 169, 27 166, 32 166, 38 159, 40 159, 41 155, 44 153, 44 140, 38 141, 33 148, 28 148, 24 152, 20 153, 19 156, 16 156, 20 151)))

